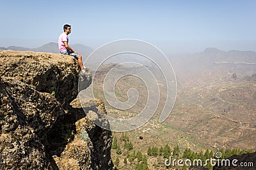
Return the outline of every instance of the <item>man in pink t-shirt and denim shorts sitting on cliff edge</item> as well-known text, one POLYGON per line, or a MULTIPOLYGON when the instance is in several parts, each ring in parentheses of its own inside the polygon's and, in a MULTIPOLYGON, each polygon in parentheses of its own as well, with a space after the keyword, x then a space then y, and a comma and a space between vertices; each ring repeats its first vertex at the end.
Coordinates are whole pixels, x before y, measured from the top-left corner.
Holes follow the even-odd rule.
POLYGON ((84 73, 86 67, 83 66, 82 55, 79 55, 68 45, 68 34, 71 32, 71 25, 65 24, 63 30, 64 32, 60 34, 58 40, 60 53, 76 57, 76 59, 78 59, 78 64, 81 67, 81 72, 84 73))

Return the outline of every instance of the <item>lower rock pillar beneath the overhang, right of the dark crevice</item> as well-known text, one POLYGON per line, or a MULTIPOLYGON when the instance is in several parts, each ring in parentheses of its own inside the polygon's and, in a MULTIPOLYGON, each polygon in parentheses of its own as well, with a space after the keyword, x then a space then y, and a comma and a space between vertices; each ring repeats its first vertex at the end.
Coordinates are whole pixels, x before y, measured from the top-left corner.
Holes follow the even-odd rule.
MULTIPOLYGON (((76 122, 74 126, 76 134, 74 140, 63 148, 63 152, 53 154, 56 164, 60 169, 111 169, 110 167, 113 166, 110 159, 111 132, 101 128, 104 126, 108 128, 109 126, 106 119, 104 103, 99 99, 96 101, 94 99, 76 99, 71 105, 73 108, 72 112, 76 114, 71 117, 66 117, 63 121, 76 122), (99 117, 101 127, 93 124, 88 116, 84 117, 84 111, 86 115, 96 114, 97 117, 99 117), (86 137, 83 136, 85 131, 88 134, 87 139, 84 139, 86 137), (76 162, 76 164, 74 164, 74 162, 76 162), (79 166, 77 166, 78 162, 79 166)), ((63 121, 61 120, 62 124, 63 121)), ((52 129, 54 132, 54 128, 52 129)), ((56 127, 56 129, 58 129, 58 127, 56 127)), ((54 132, 54 134, 56 134, 56 132, 54 132)), ((55 141, 58 141, 58 139, 55 141)), ((52 148, 56 147, 54 146, 52 148)), ((53 151, 54 150, 51 149, 51 152, 53 151)))

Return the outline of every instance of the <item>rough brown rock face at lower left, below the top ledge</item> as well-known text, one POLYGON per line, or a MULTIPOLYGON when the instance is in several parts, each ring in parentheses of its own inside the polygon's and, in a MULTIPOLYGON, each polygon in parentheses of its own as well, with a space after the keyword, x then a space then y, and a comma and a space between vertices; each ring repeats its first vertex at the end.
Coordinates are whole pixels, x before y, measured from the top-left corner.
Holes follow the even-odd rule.
POLYGON ((0 89, 0 169, 49 169, 42 140, 65 111, 50 94, 21 81, 1 78, 0 89))

